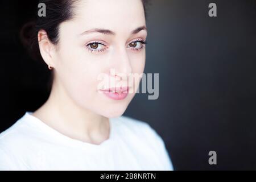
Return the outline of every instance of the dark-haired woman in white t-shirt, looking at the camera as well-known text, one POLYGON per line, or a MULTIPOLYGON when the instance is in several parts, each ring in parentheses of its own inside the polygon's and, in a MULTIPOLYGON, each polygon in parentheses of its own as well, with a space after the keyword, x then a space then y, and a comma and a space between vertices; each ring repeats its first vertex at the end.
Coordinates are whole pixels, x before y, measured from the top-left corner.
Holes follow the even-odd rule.
POLYGON ((51 93, 0 134, 0 169, 172 170, 156 131, 122 115, 141 77, 127 80, 144 71, 146 1, 40 3, 46 16, 36 35, 53 74, 51 93))

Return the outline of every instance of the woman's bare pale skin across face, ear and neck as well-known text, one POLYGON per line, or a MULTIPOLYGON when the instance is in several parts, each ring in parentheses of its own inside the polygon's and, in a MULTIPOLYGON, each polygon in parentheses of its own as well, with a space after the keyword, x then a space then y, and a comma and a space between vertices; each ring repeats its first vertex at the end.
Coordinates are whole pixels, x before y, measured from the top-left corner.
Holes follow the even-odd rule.
MULTIPOLYGON (((44 30, 38 32, 40 53, 53 68, 54 80, 48 100, 32 115, 70 138, 101 144, 109 138, 109 118, 122 115, 135 93, 124 100, 111 100, 98 93, 97 76, 106 73, 111 77, 111 68, 126 76, 143 73, 146 48, 138 51, 131 47, 137 40, 146 41, 143 28, 131 34, 146 27, 143 5, 141 0, 80 0, 74 11, 75 19, 60 24, 57 46, 44 30), (111 30, 115 35, 83 34, 93 28, 111 30), (89 51, 92 47, 87 45, 94 41, 104 43, 96 48, 104 51, 89 51)), ((141 46, 137 42, 136 48, 141 46)))

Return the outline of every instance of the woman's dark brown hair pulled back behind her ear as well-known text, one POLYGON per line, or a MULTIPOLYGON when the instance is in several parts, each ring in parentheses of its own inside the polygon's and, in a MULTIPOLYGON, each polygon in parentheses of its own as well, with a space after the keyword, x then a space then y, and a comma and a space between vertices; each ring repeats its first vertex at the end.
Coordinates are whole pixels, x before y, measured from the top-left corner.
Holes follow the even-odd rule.
MULTIPOLYGON (((150 0, 141 0, 143 3, 144 15, 147 19, 147 6, 150 0)), ((75 18, 74 9, 79 0, 39 0, 38 3, 46 5, 47 16, 38 16, 35 11, 35 20, 27 22, 20 30, 20 39, 23 46, 27 48, 28 54, 33 60, 43 61, 39 51, 38 32, 44 30, 51 43, 57 45, 59 43, 59 25, 65 21, 75 18), (30 36, 27 36, 27 35, 30 36), (25 36, 26 35, 26 36, 25 36)), ((36 9, 37 10, 37 9, 36 9)), ((48 83, 48 89, 51 89, 53 81, 53 72, 48 83)))

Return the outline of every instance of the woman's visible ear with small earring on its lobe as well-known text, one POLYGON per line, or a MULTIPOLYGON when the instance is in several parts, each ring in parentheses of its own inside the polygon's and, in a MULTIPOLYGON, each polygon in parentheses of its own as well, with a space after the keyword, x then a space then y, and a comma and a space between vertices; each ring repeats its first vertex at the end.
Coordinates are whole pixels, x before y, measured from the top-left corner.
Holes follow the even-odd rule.
POLYGON ((52 58, 55 51, 55 45, 48 39, 48 35, 45 30, 40 30, 38 32, 38 44, 44 62, 46 62, 47 65, 54 67, 54 61, 52 58))

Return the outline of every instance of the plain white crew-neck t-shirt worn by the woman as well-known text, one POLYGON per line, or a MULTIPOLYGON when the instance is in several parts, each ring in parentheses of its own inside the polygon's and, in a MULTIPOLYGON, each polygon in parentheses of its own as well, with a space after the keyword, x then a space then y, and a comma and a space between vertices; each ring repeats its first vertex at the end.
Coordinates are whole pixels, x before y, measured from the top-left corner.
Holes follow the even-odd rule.
POLYGON ((101 144, 72 139, 26 112, 0 134, 0 170, 173 170, 152 127, 126 116, 110 118, 101 144))

